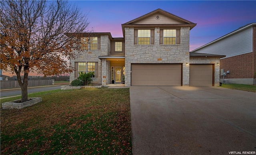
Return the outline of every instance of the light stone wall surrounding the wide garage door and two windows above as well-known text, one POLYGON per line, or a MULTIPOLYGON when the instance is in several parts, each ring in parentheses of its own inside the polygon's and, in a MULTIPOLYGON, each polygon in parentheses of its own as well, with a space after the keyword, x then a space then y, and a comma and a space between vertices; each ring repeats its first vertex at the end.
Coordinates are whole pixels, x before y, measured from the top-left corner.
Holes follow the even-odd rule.
POLYGON ((125 27, 125 85, 131 85, 132 63, 179 63, 182 65, 182 85, 189 85, 190 27, 180 28, 179 45, 160 45, 160 27, 154 30, 154 45, 134 45, 134 27, 125 27))

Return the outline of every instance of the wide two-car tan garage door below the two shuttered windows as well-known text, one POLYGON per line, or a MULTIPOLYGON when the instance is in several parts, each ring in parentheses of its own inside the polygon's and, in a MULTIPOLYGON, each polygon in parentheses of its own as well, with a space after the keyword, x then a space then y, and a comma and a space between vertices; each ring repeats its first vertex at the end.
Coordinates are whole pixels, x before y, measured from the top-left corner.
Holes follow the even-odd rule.
POLYGON ((132 86, 181 86, 181 64, 132 64, 132 86))

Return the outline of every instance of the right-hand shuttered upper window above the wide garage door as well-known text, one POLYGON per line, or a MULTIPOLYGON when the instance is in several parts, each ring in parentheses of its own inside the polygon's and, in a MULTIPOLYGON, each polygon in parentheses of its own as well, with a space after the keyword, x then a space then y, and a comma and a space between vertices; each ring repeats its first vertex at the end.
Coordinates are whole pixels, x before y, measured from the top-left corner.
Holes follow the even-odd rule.
POLYGON ((180 44, 180 29, 160 29, 160 45, 180 44))

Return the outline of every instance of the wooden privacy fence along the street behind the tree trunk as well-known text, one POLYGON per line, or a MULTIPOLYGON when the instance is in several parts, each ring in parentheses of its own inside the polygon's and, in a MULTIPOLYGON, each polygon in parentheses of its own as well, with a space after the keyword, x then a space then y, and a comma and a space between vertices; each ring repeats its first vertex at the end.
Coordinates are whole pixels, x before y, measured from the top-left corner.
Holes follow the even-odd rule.
MULTIPOLYGON (((0 81, 1 89, 20 88, 17 80, 0 81)), ((28 80, 28 86, 47 86, 54 85, 54 80, 28 80)))

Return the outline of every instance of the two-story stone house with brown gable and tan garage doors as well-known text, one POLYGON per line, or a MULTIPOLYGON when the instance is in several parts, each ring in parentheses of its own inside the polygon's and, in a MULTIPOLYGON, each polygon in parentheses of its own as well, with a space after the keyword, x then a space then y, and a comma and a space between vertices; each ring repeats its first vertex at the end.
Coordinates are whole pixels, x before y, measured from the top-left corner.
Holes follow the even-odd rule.
POLYGON ((195 26, 157 9, 122 24, 124 37, 84 33, 84 53, 70 61, 75 68, 70 82, 79 72, 93 72, 93 83, 102 85, 122 83, 124 77, 126 86, 217 86, 224 56, 189 52, 195 26))

